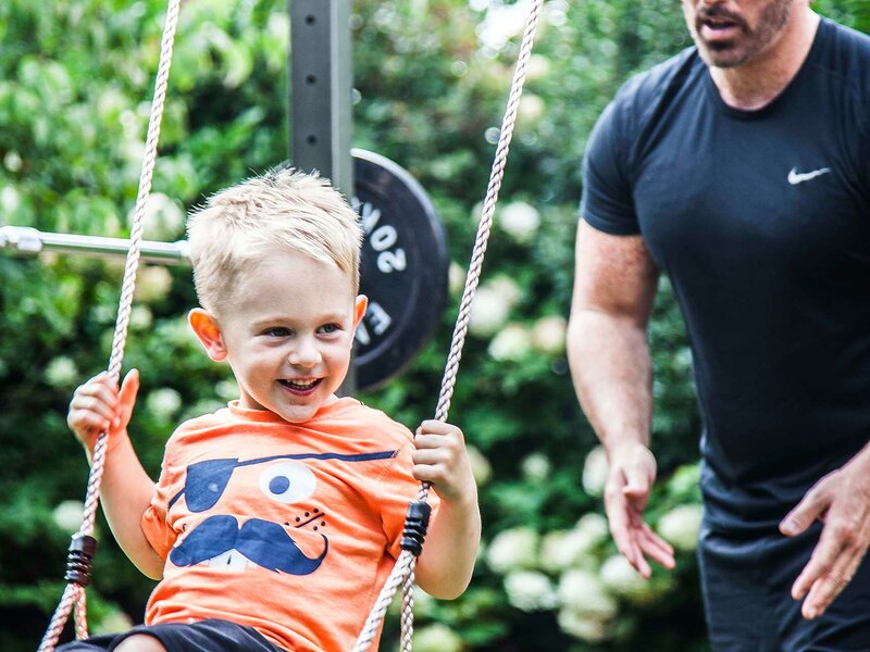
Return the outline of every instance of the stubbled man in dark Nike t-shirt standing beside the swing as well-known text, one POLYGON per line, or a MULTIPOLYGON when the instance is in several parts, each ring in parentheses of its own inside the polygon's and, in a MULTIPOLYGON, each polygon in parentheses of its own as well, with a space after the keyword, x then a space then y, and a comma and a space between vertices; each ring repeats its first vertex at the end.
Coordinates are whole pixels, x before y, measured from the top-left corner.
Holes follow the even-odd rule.
POLYGON ((683 0, 696 47, 623 86, 584 161, 569 358, 610 528, 642 575, 673 566, 643 521, 664 273, 704 418, 708 627, 729 652, 870 650, 870 38, 808 4, 683 0))

